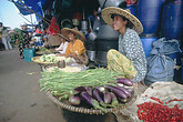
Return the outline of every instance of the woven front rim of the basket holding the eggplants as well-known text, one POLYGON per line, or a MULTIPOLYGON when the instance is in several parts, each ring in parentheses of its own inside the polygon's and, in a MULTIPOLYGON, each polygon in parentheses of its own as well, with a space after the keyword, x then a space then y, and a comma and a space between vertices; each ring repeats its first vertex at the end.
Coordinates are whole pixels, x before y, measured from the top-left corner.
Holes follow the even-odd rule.
MULTIPOLYGON (((84 114, 96 114, 96 115, 98 114, 105 114, 105 112, 103 112, 101 110, 94 110, 94 109, 87 109, 87 108, 79 108, 79 106, 70 105, 68 100, 63 100, 62 102, 60 102, 55 96, 53 96, 51 94, 51 92, 47 92, 47 94, 55 104, 60 105, 62 109, 65 109, 65 110, 72 111, 72 112, 84 113, 84 114)), ((124 103, 124 105, 119 106, 116 109, 114 109, 114 108, 105 109, 106 113, 119 113, 120 110, 133 104, 135 102, 136 98, 138 98, 138 94, 135 92, 133 92, 129 102, 124 103)))

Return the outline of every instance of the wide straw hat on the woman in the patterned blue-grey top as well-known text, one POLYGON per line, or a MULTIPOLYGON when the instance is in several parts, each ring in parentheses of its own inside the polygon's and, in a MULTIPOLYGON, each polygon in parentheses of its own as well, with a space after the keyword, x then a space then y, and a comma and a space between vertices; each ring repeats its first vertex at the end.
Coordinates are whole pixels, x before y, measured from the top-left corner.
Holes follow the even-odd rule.
POLYGON ((118 8, 118 7, 108 7, 102 10, 102 18, 105 21, 105 23, 112 26, 112 18, 111 14, 119 14, 122 17, 125 17, 129 21, 132 22, 133 28, 139 34, 143 32, 142 23, 139 21, 136 17, 131 14, 128 10, 118 8))

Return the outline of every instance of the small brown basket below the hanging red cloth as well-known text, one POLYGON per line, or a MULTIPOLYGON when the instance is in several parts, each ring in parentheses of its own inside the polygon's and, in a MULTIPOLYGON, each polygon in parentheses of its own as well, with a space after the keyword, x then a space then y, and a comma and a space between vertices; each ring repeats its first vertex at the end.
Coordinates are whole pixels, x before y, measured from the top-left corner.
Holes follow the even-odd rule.
POLYGON ((49 39, 48 43, 51 44, 51 45, 60 45, 60 43, 61 43, 59 35, 51 35, 51 34, 49 34, 48 39, 49 39))

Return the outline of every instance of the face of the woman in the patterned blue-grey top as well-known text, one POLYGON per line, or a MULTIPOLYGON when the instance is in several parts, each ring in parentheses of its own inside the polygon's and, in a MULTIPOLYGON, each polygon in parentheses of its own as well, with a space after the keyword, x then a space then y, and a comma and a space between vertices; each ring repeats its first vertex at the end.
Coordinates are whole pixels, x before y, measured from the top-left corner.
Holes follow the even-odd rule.
POLYGON ((125 29, 128 21, 123 20, 120 16, 115 16, 112 22, 112 27, 114 30, 120 31, 125 29))

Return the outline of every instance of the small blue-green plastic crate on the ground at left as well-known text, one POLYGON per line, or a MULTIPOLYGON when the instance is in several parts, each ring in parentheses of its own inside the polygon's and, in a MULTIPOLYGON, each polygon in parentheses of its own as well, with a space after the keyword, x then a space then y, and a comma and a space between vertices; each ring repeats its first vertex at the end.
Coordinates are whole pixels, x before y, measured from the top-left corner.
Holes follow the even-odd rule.
POLYGON ((23 49, 23 54, 24 54, 26 62, 32 61, 31 58, 33 58, 34 50, 33 49, 23 49))

